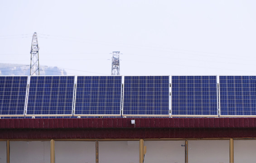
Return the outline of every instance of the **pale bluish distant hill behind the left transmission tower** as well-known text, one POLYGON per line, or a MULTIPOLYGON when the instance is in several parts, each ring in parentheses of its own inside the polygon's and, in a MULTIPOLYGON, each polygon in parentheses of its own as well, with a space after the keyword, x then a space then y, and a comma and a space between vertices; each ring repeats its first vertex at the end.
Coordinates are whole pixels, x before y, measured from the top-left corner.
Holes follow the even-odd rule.
MULTIPOLYGON (((0 63, 0 75, 29 75, 30 65, 0 63)), ((40 75, 67 75, 67 72, 58 67, 40 66, 40 75)))

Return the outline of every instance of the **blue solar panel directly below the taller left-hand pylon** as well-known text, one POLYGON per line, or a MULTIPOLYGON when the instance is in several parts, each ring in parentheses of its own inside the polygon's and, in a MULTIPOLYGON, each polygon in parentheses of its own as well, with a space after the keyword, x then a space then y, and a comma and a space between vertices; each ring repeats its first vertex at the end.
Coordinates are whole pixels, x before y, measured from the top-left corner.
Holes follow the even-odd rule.
POLYGON ((74 76, 31 76, 26 115, 72 115, 74 76))

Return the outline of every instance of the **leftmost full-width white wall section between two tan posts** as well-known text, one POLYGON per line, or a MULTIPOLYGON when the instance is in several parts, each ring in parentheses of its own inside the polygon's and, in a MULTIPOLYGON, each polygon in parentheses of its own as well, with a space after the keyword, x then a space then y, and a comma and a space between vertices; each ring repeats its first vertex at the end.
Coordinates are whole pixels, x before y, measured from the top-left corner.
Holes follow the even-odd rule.
POLYGON ((10 141, 11 163, 49 163, 50 141, 10 141))

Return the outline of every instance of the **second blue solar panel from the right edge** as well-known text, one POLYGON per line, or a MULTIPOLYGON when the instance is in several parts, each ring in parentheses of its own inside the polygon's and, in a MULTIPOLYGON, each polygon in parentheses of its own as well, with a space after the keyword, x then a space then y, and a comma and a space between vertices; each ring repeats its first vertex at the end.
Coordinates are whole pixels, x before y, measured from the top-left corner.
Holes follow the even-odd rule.
POLYGON ((218 115, 216 76, 172 76, 172 115, 218 115))

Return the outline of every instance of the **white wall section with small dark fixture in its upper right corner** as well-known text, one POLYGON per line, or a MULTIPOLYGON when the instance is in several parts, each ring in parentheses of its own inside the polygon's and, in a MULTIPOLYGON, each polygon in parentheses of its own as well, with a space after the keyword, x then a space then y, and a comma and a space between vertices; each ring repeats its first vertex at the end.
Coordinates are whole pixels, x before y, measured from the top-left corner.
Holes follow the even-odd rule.
POLYGON ((144 141, 144 163, 185 163, 185 141, 144 141))

